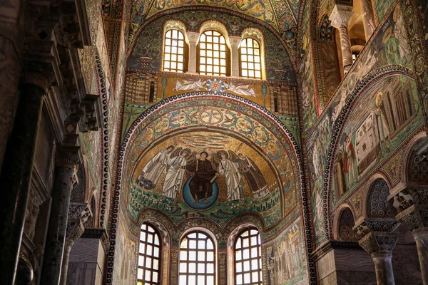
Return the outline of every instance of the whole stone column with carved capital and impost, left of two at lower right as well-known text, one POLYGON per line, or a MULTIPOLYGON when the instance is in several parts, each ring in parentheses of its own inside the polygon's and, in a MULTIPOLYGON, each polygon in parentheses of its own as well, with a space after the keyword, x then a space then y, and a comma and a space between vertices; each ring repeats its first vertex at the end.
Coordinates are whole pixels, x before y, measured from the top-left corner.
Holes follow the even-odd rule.
POLYGON ((378 285, 395 284, 391 257, 399 238, 394 232, 398 226, 394 219, 363 219, 354 227, 358 234, 364 235, 358 243, 373 259, 378 285))

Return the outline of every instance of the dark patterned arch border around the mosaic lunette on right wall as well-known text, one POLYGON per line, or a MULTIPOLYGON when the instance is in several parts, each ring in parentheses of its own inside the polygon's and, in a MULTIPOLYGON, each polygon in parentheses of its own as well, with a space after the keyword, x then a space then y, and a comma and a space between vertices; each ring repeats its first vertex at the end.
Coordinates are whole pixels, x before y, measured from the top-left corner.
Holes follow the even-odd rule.
MULTIPOLYGON (((342 108, 339 118, 335 120, 335 125, 332 134, 332 140, 330 141, 330 147, 327 154, 327 161, 325 163, 325 173, 324 173, 324 190, 322 197, 322 208, 323 208, 323 219, 324 219, 324 229, 325 229, 325 238, 320 242, 329 240, 332 238, 332 227, 329 220, 329 204, 330 204, 330 192, 331 192, 331 180, 332 180, 332 167, 334 164, 334 159, 338 151, 339 138, 343 133, 345 124, 350 115, 350 111, 358 99, 366 93, 372 86, 379 83, 384 78, 389 78, 392 76, 407 76, 408 78, 414 80, 414 73, 409 68, 399 65, 384 66, 378 68, 374 71, 368 73, 360 82, 358 82, 350 93, 349 98, 347 98, 345 106, 342 108)), ((385 180, 387 181, 387 180, 385 180)))

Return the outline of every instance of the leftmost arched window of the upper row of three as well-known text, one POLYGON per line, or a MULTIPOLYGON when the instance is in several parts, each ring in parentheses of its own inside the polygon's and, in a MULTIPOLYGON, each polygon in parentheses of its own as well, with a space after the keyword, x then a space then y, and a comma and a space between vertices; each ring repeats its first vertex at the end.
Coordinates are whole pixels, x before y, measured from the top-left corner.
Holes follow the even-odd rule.
POLYGON ((163 44, 163 71, 184 72, 187 45, 183 33, 169 30, 165 33, 163 44))

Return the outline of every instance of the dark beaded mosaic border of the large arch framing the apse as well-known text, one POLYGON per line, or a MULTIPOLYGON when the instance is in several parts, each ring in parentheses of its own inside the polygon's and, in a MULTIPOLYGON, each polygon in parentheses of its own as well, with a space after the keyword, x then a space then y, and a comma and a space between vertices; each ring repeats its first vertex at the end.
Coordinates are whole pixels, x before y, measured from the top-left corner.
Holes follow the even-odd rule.
MULTIPOLYGON (((107 278, 106 278, 106 284, 112 284, 113 283, 113 264, 114 264, 114 254, 116 249, 116 229, 118 224, 118 208, 119 208, 119 201, 120 201, 120 195, 121 195, 121 184, 122 184, 122 175, 123 175, 123 167, 124 167, 124 161, 123 157, 125 156, 126 147, 128 145, 128 142, 131 138, 131 136, 134 133, 134 130, 136 130, 136 127, 151 113, 158 110, 158 108, 162 108, 164 105, 171 104, 175 101, 178 101, 182 98, 196 98, 199 95, 212 95, 212 96, 218 96, 218 97, 227 97, 232 98, 237 101, 237 103, 245 103, 246 105, 252 106, 253 108, 257 108, 260 112, 267 115, 270 120, 272 120, 272 123, 275 123, 280 130, 283 131, 283 135, 287 138, 289 141, 290 148, 294 148, 294 155, 295 160, 297 161, 297 169, 299 170, 299 178, 300 178, 300 214, 302 215, 302 219, 304 221, 304 231, 305 231, 305 245, 306 245, 306 255, 307 255, 307 268, 310 275, 310 284, 315 284, 315 264, 312 259, 312 240, 311 240, 311 227, 310 227, 310 220, 308 217, 308 201, 307 201, 307 193, 306 193, 306 187, 305 187, 305 170, 304 165, 302 162, 302 154, 301 150, 299 149, 299 145, 295 138, 293 137, 290 130, 288 130, 287 126, 281 122, 280 119, 278 119, 273 113, 270 112, 270 110, 267 110, 261 105, 258 105, 257 103, 248 100, 246 98, 242 98, 237 95, 228 94, 228 93, 219 93, 217 95, 214 95, 212 93, 208 92, 191 92, 191 93, 184 93, 180 95, 174 95, 170 98, 165 98, 164 100, 161 100, 160 102, 156 103, 155 105, 152 105, 150 108, 146 109, 131 125, 131 128, 127 131, 123 142, 121 144, 119 155, 118 155, 118 167, 117 167, 117 175, 116 175, 116 186, 115 190, 113 192, 113 197, 111 199, 113 200, 111 212, 112 218, 111 218, 111 246, 108 250, 108 259, 107 259, 107 278), (292 147, 291 147, 292 146, 292 147)), ((184 222, 184 221, 183 221, 184 222)))

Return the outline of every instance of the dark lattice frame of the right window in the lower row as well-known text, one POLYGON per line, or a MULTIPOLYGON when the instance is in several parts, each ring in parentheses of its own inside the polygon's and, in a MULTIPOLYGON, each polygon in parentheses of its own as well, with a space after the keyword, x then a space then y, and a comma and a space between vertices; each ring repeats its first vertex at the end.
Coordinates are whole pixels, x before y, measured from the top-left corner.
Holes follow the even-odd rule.
POLYGON ((262 254, 262 239, 260 237, 260 231, 256 228, 256 227, 248 227, 245 229, 242 229, 239 234, 235 237, 235 241, 233 242, 233 281, 234 284, 238 284, 238 274, 242 274, 243 276, 243 281, 241 283, 241 285, 261 285, 263 284, 263 254, 262 254), (253 235, 251 234, 251 231, 255 230, 257 231, 257 234, 253 235), (243 247, 243 241, 241 241, 241 247, 240 249, 236 248, 236 245, 238 243, 239 239, 242 239, 242 235, 248 231, 248 237, 244 237, 245 239, 248 238, 248 247, 243 247), (256 237, 258 244, 256 245, 252 245, 251 244, 251 237, 256 237), (258 257, 252 257, 251 256, 251 249, 256 248, 257 252, 258 252, 258 257), (245 249, 249 249, 249 254, 250 256, 248 257, 248 259, 245 259, 243 257, 243 254, 241 256, 241 259, 238 261, 236 259, 237 257, 237 252, 244 252, 245 249), (253 260, 257 260, 258 261, 258 269, 253 269, 253 260), (245 271, 244 267, 242 266, 241 269, 242 271, 237 272, 237 264, 241 263, 244 264, 244 261, 250 261, 250 271, 245 271), (253 282, 253 272, 258 271, 258 281, 253 282), (244 281, 244 274, 245 273, 249 273, 250 274, 250 283, 245 283, 244 281))

